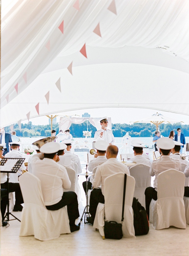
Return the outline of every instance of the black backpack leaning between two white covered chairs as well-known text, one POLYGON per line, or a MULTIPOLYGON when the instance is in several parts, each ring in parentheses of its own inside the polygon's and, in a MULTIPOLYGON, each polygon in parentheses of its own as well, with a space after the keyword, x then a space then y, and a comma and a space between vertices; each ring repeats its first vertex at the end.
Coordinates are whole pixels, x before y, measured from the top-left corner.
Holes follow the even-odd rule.
POLYGON ((133 212, 134 212, 134 228, 135 236, 141 236, 148 234, 149 231, 149 221, 146 210, 139 203, 138 199, 133 198, 133 212))

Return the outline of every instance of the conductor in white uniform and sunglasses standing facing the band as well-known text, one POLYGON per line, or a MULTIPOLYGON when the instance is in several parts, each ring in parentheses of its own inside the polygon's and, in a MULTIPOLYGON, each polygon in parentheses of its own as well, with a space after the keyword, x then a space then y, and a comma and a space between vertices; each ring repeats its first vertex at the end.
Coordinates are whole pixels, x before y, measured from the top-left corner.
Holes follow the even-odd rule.
POLYGON ((100 130, 95 132, 94 140, 95 141, 104 140, 107 143, 109 143, 110 145, 112 145, 114 143, 115 139, 114 139, 112 131, 110 129, 108 129, 108 118, 104 117, 103 119, 101 119, 100 125, 101 125, 101 128, 100 128, 100 130))

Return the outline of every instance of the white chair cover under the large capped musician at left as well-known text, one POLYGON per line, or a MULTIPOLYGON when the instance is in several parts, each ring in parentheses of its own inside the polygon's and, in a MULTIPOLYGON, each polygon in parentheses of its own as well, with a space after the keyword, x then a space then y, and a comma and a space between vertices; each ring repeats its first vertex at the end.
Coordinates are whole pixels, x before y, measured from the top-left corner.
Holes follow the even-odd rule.
POLYGON ((24 199, 20 236, 31 236, 46 241, 70 233, 67 206, 49 211, 44 205, 41 181, 31 173, 19 178, 24 199))

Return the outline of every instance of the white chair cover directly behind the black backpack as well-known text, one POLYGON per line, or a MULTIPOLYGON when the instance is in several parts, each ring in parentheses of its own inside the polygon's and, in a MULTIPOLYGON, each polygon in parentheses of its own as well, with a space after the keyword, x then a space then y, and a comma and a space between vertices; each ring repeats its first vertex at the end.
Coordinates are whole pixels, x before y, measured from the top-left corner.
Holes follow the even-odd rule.
POLYGON ((145 204, 145 189, 151 185, 150 166, 137 164, 130 169, 130 175, 135 178, 135 192, 136 197, 141 205, 146 208, 145 204))

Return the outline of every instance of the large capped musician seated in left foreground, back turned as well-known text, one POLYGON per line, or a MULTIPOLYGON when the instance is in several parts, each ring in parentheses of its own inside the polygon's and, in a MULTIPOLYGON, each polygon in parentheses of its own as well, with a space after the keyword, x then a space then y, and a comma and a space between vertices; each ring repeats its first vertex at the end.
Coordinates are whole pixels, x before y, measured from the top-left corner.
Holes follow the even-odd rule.
POLYGON ((73 191, 64 192, 71 187, 66 168, 56 163, 60 144, 56 142, 45 143, 40 148, 42 154, 32 157, 33 174, 41 181, 41 189, 45 206, 55 211, 67 205, 70 231, 79 230, 75 220, 79 217, 77 195, 73 191), (42 160, 43 159, 43 160, 42 160))

